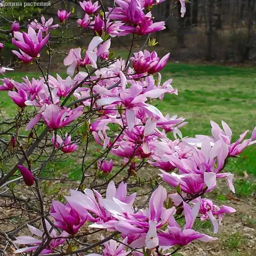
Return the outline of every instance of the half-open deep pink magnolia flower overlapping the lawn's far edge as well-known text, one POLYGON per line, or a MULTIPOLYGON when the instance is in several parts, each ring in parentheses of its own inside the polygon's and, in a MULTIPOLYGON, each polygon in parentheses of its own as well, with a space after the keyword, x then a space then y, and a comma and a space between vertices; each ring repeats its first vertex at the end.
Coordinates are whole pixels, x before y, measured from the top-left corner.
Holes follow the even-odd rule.
POLYGON ((132 67, 138 73, 154 74, 159 72, 166 65, 170 53, 166 54, 161 60, 154 51, 150 54, 147 50, 143 52, 135 52, 134 57, 131 58, 132 67))

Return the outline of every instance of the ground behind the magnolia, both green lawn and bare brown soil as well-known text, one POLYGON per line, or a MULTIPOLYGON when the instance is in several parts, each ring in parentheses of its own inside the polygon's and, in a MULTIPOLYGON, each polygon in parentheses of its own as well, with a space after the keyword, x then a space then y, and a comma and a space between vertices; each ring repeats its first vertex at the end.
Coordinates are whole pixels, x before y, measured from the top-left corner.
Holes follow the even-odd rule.
MULTIPOLYGON (((163 80, 173 78, 173 88, 178 88, 179 96, 166 95, 163 101, 155 102, 163 113, 186 117, 189 122, 182 128, 183 136, 211 134, 210 120, 220 124, 227 122, 234 132, 234 138, 247 129, 252 131, 256 125, 256 69, 237 67, 218 67, 211 65, 186 65, 170 63, 163 72, 163 80)), ((61 73, 62 74, 62 73, 61 73)), ((22 76, 39 76, 38 73, 8 73, 8 77, 20 79, 22 76)), ((2 114, 13 115, 15 108, 6 93, 0 98, 2 114)), ((250 136, 248 136, 250 138, 250 136)), ((225 182, 209 195, 218 205, 230 205, 236 208, 235 214, 224 216, 223 225, 217 235, 219 241, 212 243, 192 243, 175 255, 183 256, 253 256, 256 255, 256 150, 255 145, 244 150, 241 157, 231 159, 227 172, 236 175, 236 194, 232 194, 225 182)), ((92 156, 99 152, 92 150, 92 156)), ((79 153, 78 153, 79 154, 79 153)), ((72 154, 70 161, 56 164, 72 179, 79 179, 79 167, 74 163, 79 157, 72 154), (65 170, 65 171, 64 171, 65 170)), ((76 164, 77 165, 77 164, 76 164)), ((79 166, 79 165, 77 165, 79 166)), ((140 173, 143 177, 143 172, 140 173)), ((70 184, 72 186, 72 184, 70 184)), ((212 234, 207 222, 196 223, 199 229, 207 229, 212 234)))

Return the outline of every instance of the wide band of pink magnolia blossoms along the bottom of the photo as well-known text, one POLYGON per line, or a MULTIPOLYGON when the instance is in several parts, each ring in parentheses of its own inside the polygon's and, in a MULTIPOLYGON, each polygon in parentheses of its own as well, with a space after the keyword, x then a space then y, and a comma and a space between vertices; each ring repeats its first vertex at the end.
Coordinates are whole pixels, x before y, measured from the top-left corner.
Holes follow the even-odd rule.
MULTIPOLYGON (((127 196, 127 186, 123 182, 116 189, 114 182, 110 182, 106 190, 106 198, 102 198, 100 193, 85 189, 82 192, 70 190, 70 196, 66 196, 67 204, 60 202, 52 202, 51 216, 54 218, 54 226, 61 228, 63 233, 60 236, 68 237, 77 234, 79 228, 84 223, 90 224, 90 228, 101 228, 111 232, 117 231, 124 238, 122 245, 117 248, 115 242, 109 241, 105 243, 106 247, 103 255, 109 255, 109 247, 112 249, 111 255, 119 255, 118 252, 129 254, 124 250, 125 244, 129 244, 129 248, 146 247, 156 255, 156 248, 167 251, 175 245, 184 246, 191 241, 214 241, 217 238, 201 234, 193 230, 193 224, 199 215, 200 220, 204 221, 210 218, 214 227, 214 232, 218 232, 218 216, 221 222, 225 213, 235 212, 232 207, 223 205, 221 208, 213 205, 211 200, 197 198, 191 207, 186 202, 182 202, 181 207, 184 209, 184 218, 186 224, 180 227, 175 220, 175 207, 166 208, 164 202, 168 198, 166 189, 163 186, 152 193, 147 209, 133 207, 136 193, 127 196), (114 244, 115 245, 114 245, 114 244), (111 246, 112 244, 112 246, 111 246), (114 253, 115 254, 112 254, 114 253)), ((28 225, 29 230, 36 236, 42 237, 43 232, 37 228, 28 225)), ((52 236, 56 237, 56 231, 52 230, 52 236)), ((65 243, 65 239, 58 239, 50 244, 46 253, 51 253, 54 248, 65 243)), ((36 250, 40 239, 29 236, 17 237, 17 244, 33 244, 17 250, 16 252, 31 252, 36 250)), ((138 253, 138 252, 136 252, 138 253)), ((141 253, 134 255, 143 255, 141 253)), ((42 253, 44 254, 44 253, 42 253)), ((95 255, 95 254, 90 254, 95 255)), ((123 254, 122 254, 123 255, 123 254)))

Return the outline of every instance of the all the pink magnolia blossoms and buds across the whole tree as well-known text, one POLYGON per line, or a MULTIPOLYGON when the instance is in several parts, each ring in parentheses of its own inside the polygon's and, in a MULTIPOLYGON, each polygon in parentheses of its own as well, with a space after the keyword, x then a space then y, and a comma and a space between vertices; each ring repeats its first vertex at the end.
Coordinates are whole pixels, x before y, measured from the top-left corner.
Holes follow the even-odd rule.
MULTIPOLYGON (((65 197, 65 204, 52 202, 50 214, 56 229, 47 220, 44 220, 47 227, 44 231, 28 225, 31 233, 41 239, 17 237, 13 243, 29 246, 16 250, 16 253, 37 251, 45 243, 47 232, 51 242, 40 253, 56 252, 55 249, 60 249, 67 239, 76 236, 81 227, 87 225, 116 232, 123 239, 119 246, 114 240, 106 241, 100 255, 129 255, 131 252, 145 255, 145 248, 149 255, 162 255, 159 252, 170 252, 173 246, 184 246, 194 240, 216 240, 193 229, 196 218, 210 220, 214 233, 217 233, 223 214, 236 211, 226 205, 214 205, 202 195, 212 191, 217 185, 216 180, 223 178, 234 192, 234 175, 223 170, 229 157, 237 157, 244 148, 256 143, 256 128, 249 139, 244 139, 246 131, 239 140, 232 142, 232 131, 225 122, 222 122, 223 129, 211 122, 212 136, 182 138, 180 128, 186 125, 185 118, 164 116, 152 104, 152 99, 163 100, 166 94, 177 95, 172 79, 162 83, 158 74, 170 54, 159 58, 155 51, 138 51, 126 63, 122 59, 110 58, 111 39, 102 39, 104 33, 110 36, 148 35, 164 29, 164 22, 153 22, 152 13, 148 12, 161 2, 116 0, 117 6, 109 8, 104 15, 99 11, 99 3, 81 2, 85 14, 77 23, 83 28, 93 29, 96 36, 83 56, 81 48, 70 49, 63 60, 68 66, 68 77, 49 75, 47 79, 40 77, 31 81, 26 77, 22 83, 4 78, 0 90, 8 91, 22 110, 35 107, 35 116, 26 125, 26 130, 45 124, 47 131, 52 132, 51 143, 56 151, 67 154, 77 149, 78 143, 71 134, 61 137, 60 130, 87 118, 92 138, 102 150, 109 150, 110 154, 122 159, 129 175, 136 172, 137 161, 143 161, 158 168, 159 177, 177 189, 177 193, 168 193, 164 186, 157 185, 146 208, 134 204, 136 193, 127 195, 124 182, 120 182, 117 189, 114 182, 109 182, 104 198, 96 190, 71 189, 70 196, 65 197), (89 66, 93 68, 92 74, 88 74, 89 66), (81 71, 84 67, 86 72, 81 71), (74 101, 69 102, 70 99, 74 101), (88 109, 95 115, 88 117, 88 109), (121 132, 113 132, 113 126, 121 132), (170 140, 169 133, 175 140, 170 140), (168 206, 166 202, 170 201, 172 204, 168 206), (185 220, 184 225, 180 225, 179 218, 185 220)), ((180 3, 184 15, 185 1, 180 3)), ((65 22, 70 15, 66 10, 58 12, 60 22, 65 22)), ((52 22, 52 19, 45 21, 42 17, 41 22, 34 20, 29 24, 28 33, 13 30, 12 43, 19 48, 19 52, 13 53, 25 63, 39 58, 49 42, 49 31, 58 28, 52 22)), ((0 49, 3 49, 1 44, 0 49)), ((113 160, 96 162, 97 168, 108 177, 113 170, 113 160)), ((17 167, 26 185, 33 186, 33 172, 22 165, 17 167)))

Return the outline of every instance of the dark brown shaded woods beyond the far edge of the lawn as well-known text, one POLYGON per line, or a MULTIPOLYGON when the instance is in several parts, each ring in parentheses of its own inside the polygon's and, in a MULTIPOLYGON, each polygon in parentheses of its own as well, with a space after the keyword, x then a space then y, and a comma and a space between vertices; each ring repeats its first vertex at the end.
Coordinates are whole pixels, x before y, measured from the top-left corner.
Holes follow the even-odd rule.
MULTIPOLYGON (((106 8, 113 6, 113 0, 102 1, 106 8)), ((19 12, 25 12, 24 8, 17 8, 19 15, 19 12)), ((56 23, 58 8, 75 10, 70 20, 70 33, 75 35, 81 31, 86 32, 85 29, 77 28, 76 24, 76 20, 84 15, 79 0, 63 0, 47 9, 46 17, 54 17, 56 23)), ((166 0, 152 8, 155 21, 166 20, 166 30, 151 35, 159 42, 157 51, 171 52, 172 61, 218 60, 243 63, 256 60, 256 0, 191 0, 191 3, 186 3, 186 8, 184 18, 180 17, 180 3, 176 0, 166 0)), ((6 20, 0 16, 0 28, 5 25, 6 20)), ((51 32, 51 35, 54 33, 51 32)), ((139 38, 136 41, 138 45, 143 44, 145 38, 147 36, 139 38)), ((2 39, 0 30, 0 41, 2 39)), ((121 50, 129 47, 130 43, 127 37, 112 40, 112 45, 121 50)), ((67 44, 70 47, 85 47, 87 42, 76 38, 67 44)))

